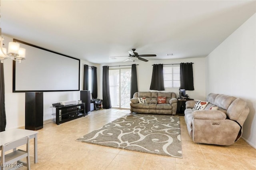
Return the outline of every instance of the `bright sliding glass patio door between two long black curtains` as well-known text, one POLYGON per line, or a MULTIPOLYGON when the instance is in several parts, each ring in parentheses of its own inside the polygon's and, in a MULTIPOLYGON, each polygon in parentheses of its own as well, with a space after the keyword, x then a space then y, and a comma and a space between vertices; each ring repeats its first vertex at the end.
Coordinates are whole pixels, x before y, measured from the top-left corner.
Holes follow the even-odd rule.
POLYGON ((110 69, 109 87, 112 107, 130 108, 130 68, 110 69))

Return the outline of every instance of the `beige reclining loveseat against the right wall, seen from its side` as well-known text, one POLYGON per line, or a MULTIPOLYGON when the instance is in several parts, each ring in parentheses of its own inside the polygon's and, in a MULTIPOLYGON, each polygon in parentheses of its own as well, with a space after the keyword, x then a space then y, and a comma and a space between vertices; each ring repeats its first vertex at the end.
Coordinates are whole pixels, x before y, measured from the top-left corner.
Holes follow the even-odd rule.
POLYGON ((210 93, 206 101, 187 101, 184 118, 194 142, 231 145, 241 137, 248 113, 246 101, 210 93))

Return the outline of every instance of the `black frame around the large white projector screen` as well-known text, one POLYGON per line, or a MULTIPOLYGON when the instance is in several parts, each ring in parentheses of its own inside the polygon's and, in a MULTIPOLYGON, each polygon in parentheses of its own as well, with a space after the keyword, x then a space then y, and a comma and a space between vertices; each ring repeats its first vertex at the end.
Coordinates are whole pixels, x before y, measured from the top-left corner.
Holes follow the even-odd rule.
MULTIPOLYGON (((23 41, 20 41, 20 40, 17 40, 17 39, 13 39, 13 42, 22 43, 22 44, 25 44, 25 45, 29 45, 29 46, 41 49, 41 50, 45 50, 45 51, 48 51, 48 52, 51 52, 51 53, 61 55, 63 57, 68 57, 68 58, 71 58, 71 59, 78 60, 78 88, 77 89, 68 89, 68 90, 50 90, 50 89, 49 90, 16 90, 16 61, 13 60, 12 61, 12 92, 13 93, 20 93, 20 92, 51 92, 51 91, 52 92, 54 92, 54 91, 80 91, 80 59, 70 57, 68 55, 58 53, 58 52, 55 52, 55 51, 52 51, 52 50, 49 50, 49 49, 45 49, 43 47, 39 47, 39 46, 30 44, 30 43, 26 43, 26 42, 23 42, 23 41)), ((22 63, 18 63, 18 64, 22 64, 22 63)))

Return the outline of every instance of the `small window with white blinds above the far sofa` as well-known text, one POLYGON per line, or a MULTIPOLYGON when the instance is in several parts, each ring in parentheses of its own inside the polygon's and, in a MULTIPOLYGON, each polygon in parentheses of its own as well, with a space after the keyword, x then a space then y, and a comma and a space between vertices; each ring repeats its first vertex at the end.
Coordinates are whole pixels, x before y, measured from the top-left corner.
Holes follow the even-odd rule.
POLYGON ((164 69, 164 87, 180 87, 180 65, 168 65, 164 69))

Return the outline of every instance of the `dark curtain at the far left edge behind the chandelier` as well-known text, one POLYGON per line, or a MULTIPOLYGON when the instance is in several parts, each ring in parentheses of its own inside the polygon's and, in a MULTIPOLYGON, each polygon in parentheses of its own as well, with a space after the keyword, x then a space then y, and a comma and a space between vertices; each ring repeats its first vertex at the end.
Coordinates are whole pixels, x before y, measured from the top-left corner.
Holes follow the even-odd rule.
POLYGON ((0 132, 6 127, 5 99, 4 99, 4 64, 0 63, 0 132))

